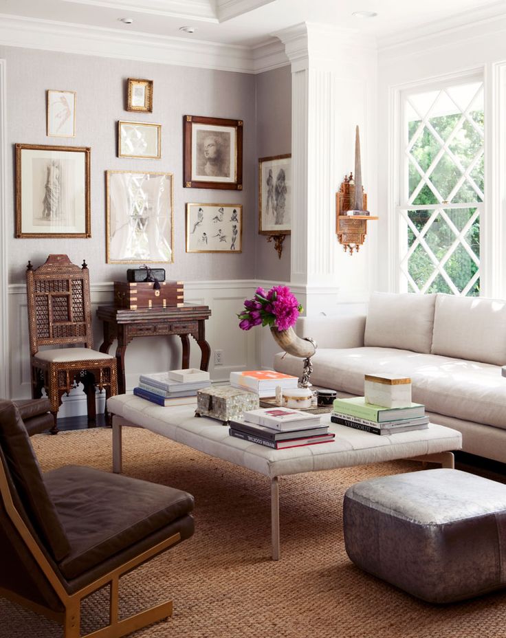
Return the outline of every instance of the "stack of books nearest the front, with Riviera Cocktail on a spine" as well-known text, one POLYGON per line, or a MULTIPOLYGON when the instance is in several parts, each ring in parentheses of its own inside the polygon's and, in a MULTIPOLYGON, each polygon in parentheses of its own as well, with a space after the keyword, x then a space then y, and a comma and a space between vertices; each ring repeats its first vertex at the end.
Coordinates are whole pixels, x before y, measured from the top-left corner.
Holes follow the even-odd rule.
POLYGON ((231 437, 274 450, 330 443, 336 436, 318 415, 291 408, 246 410, 243 419, 230 421, 229 433, 231 437))

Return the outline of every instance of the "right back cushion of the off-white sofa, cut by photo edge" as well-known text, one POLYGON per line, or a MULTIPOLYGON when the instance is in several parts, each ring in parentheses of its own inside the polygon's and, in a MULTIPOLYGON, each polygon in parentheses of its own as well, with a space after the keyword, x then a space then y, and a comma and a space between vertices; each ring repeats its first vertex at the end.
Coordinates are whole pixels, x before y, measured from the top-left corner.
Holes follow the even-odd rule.
POLYGON ((506 301, 438 294, 432 354, 506 364, 506 301))

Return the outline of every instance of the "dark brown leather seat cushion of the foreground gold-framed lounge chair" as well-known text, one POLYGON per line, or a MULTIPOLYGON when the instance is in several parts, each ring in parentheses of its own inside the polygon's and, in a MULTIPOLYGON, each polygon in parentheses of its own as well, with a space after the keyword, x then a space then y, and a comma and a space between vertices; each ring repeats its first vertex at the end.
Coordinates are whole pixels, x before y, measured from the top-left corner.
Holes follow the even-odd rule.
POLYGON ((59 563, 67 579, 93 569, 193 509, 180 489, 67 465, 44 474, 71 551, 59 563))

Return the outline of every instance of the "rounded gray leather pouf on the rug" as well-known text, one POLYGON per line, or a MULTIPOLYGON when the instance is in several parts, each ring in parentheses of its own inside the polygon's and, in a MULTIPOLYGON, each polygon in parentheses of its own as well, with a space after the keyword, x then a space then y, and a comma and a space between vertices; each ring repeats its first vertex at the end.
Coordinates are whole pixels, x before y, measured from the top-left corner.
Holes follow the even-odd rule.
POLYGON ((506 586, 506 485, 459 470, 362 481, 344 496, 344 542, 365 571, 428 602, 506 586))

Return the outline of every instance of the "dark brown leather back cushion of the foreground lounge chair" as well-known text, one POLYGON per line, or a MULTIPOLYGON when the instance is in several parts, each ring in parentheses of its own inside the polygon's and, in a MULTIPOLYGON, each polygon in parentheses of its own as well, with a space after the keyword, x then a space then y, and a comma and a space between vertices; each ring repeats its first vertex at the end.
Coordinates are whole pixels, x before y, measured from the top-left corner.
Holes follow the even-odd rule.
POLYGON ((57 561, 70 544, 45 488, 39 461, 19 412, 12 401, 0 399, 0 445, 21 503, 47 549, 57 561))

